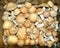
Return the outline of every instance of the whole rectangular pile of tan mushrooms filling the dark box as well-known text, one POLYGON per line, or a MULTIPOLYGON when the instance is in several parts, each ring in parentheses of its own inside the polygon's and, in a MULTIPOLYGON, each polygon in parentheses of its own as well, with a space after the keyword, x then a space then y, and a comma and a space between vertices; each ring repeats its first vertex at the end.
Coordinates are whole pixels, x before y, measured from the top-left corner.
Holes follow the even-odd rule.
POLYGON ((4 6, 2 20, 5 45, 52 47, 58 42, 56 19, 58 7, 51 1, 34 6, 30 2, 4 6))

